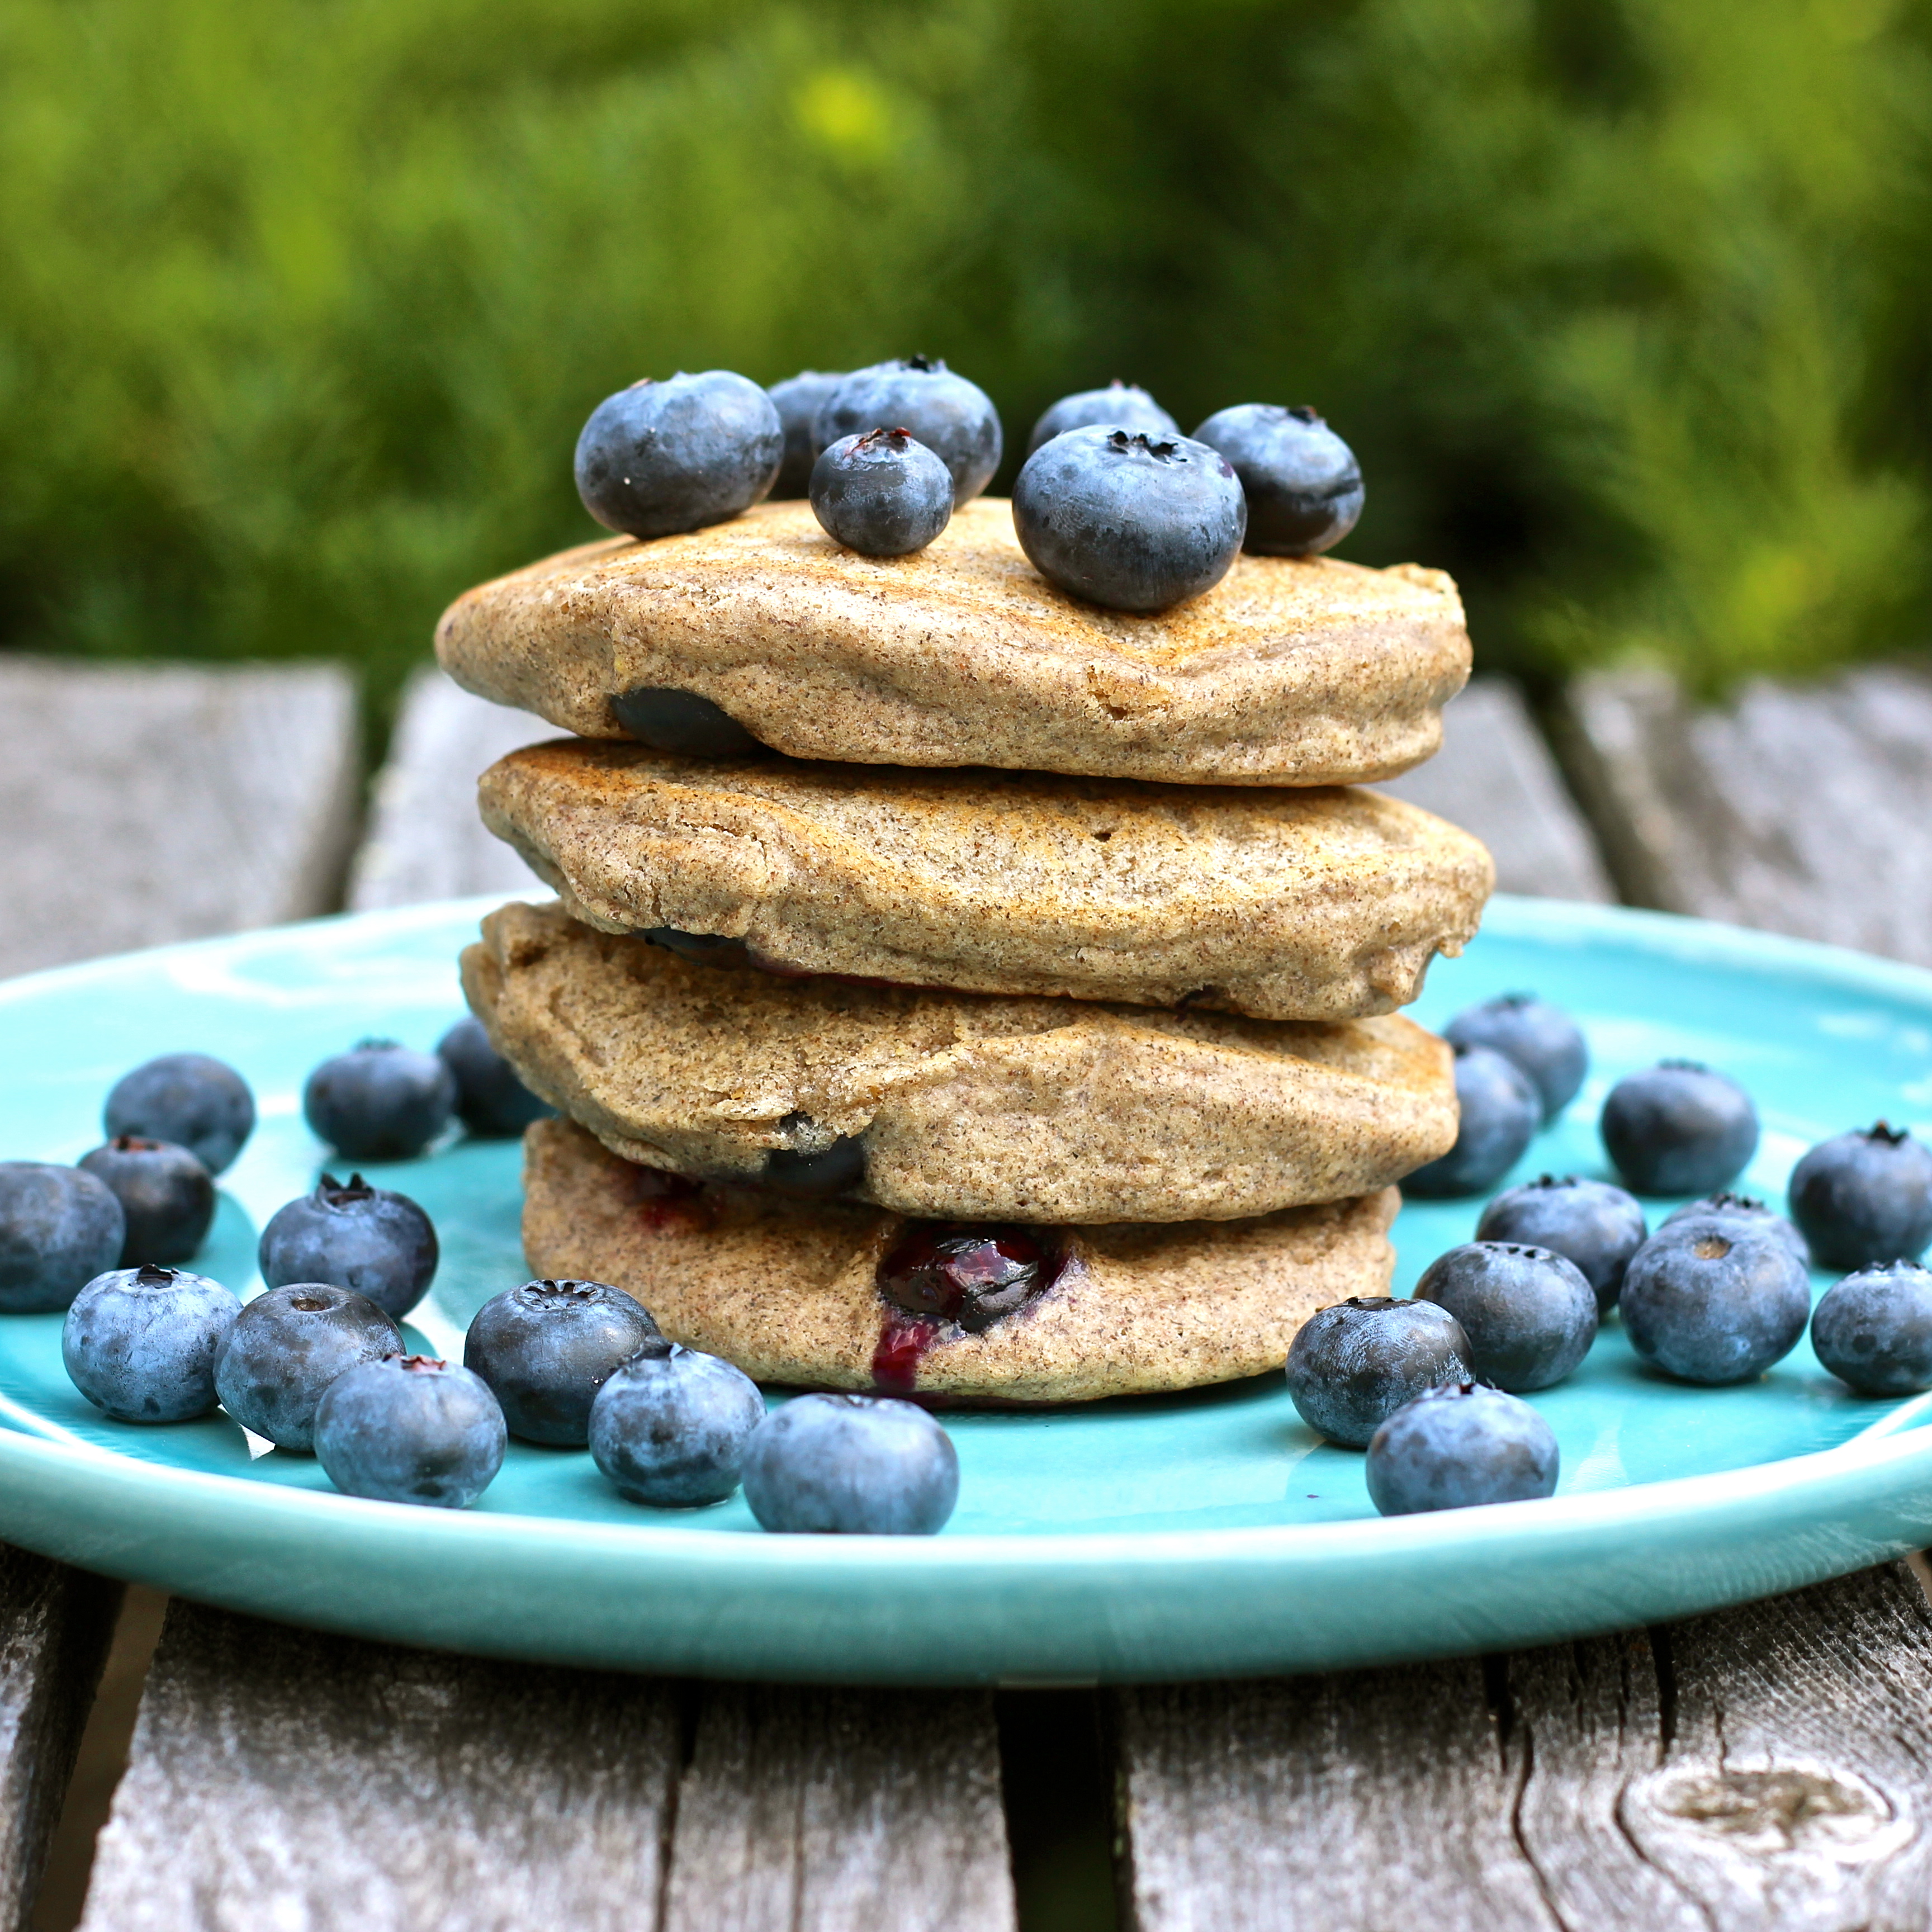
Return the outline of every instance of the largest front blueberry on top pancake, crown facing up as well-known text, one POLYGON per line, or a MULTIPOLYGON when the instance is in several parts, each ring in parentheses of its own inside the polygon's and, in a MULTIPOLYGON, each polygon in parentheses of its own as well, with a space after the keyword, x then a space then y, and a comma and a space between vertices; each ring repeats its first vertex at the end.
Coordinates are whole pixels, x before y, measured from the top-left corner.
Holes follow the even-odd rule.
POLYGON ((1092 425, 1043 442, 1012 485, 1034 568, 1109 611, 1165 611, 1227 576, 1246 506, 1202 442, 1092 425))

